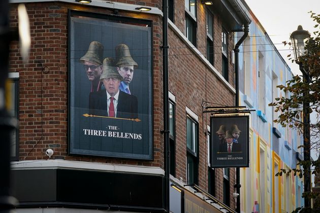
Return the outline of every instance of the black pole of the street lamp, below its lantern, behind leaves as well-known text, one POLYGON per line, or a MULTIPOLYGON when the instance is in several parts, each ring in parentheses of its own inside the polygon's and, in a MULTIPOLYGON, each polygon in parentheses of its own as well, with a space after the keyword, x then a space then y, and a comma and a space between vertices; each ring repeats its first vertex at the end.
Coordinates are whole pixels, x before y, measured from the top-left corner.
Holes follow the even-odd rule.
MULTIPOLYGON (((299 63, 300 71, 302 72, 303 81, 309 85, 310 78, 309 72, 304 69, 302 63, 299 63)), ((303 92, 304 97, 308 97, 309 89, 303 92)), ((303 160, 310 161, 310 113, 309 113, 310 102, 308 100, 303 101, 303 160)), ((311 192, 310 182, 310 166, 308 171, 304 173, 304 192, 311 192)), ((311 200, 308 196, 304 198, 304 206, 311 207, 311 200)))

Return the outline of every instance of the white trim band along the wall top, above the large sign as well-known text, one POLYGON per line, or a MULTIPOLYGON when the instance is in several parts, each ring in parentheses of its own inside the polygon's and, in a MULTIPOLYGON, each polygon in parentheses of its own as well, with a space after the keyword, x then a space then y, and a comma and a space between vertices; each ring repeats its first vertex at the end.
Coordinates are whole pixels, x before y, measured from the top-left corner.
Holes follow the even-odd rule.
POLYGON ((155 7, 149 7, 151 8, 150 11, 141 12, 136 10, 136 8, 141 7, 142 5, 133 5, 133 4, 124 4, 124 3, 118 3, 118 2, 106 2, 103 0, 92 0, 90 4, 82 4, 78 3, 75 0, 10 0, 10 3, 45 3, 45 2, 62 2, 62 3, 72 3, 77 5, 87 5, 87 6, 95 6, 95 7, 102 7, 102 8, 112 8, 112 9, 118 9, 118 10, 126 10, 126 11, 133 11, 137 13, 149 13, 149 14, 156 14, 163 16, 163 13, 161 10, 155 7))

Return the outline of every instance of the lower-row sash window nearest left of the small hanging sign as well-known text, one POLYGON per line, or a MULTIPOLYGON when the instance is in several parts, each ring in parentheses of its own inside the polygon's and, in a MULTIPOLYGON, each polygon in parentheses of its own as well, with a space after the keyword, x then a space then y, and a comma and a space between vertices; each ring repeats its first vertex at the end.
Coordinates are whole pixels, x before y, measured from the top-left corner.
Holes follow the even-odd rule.
POLYGON ((187 183, 198 184, 198 124, 187 116, 187 183))

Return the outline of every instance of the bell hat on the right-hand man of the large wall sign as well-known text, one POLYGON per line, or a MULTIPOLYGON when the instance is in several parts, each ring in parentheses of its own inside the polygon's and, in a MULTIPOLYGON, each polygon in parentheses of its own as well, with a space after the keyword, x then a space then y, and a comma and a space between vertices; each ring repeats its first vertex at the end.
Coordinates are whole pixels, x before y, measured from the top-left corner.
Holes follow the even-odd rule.
POLYGON ((138 64, 131 57, 129 47, 125 44, 119 44, 115 48, 116 54, 116 66, 134 65, 134 68, 138 68, 138 64))

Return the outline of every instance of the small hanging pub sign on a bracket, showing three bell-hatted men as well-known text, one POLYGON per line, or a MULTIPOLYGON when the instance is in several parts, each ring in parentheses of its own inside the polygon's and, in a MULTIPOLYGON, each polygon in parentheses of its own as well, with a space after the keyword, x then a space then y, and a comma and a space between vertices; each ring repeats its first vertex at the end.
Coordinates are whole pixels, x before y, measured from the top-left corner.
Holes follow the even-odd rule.
POLYGON ((211 117, 211 167, 249 166, 249 117, 211 117))

